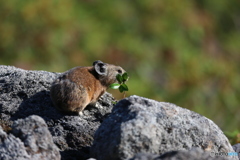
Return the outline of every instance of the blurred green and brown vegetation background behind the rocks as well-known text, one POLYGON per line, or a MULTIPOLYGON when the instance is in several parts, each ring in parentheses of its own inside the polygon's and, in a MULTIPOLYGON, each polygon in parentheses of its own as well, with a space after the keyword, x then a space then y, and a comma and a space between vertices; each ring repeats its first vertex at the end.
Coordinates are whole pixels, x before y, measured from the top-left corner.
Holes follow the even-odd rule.
POLYGON ((63 72, 98 59, 128 71, 127 96, 239 133, 239 0, 0 0, 0 64, 63 72))

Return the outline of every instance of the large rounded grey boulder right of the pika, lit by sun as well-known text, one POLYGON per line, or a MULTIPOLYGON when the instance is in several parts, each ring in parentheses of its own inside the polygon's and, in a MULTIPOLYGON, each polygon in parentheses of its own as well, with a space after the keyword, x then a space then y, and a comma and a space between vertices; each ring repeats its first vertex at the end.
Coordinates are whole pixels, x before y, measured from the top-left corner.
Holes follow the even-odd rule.
POLYGON ((192 148, 234 152, 223 132, 206 117, 174 104, 131 96, 118 102, 98 128, 91 154, 98 160, 114 160, 139 152, 162 155, 192 148))

